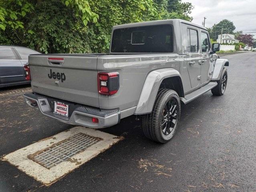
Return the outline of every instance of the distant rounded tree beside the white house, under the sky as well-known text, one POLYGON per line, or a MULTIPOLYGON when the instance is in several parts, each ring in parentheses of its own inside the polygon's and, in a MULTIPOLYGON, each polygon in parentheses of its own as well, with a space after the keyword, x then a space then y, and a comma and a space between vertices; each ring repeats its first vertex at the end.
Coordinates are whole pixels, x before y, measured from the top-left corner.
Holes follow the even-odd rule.
POLYGON ((236 27, 234 26, 233 22, 227 19, 220 21, 218 24, 214 24, 211 28, 210 38, 217 40, 218 35, 222 32, 226 34, 233 34, 236 27))

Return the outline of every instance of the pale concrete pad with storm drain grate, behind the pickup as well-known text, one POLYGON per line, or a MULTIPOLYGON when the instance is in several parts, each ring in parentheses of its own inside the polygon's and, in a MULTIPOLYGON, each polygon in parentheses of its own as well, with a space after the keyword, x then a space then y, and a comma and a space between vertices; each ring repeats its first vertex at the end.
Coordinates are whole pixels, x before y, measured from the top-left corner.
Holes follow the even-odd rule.
POLYGON ((12 152, 3 160, 48 186, 121 139, 79 126, 12 152))

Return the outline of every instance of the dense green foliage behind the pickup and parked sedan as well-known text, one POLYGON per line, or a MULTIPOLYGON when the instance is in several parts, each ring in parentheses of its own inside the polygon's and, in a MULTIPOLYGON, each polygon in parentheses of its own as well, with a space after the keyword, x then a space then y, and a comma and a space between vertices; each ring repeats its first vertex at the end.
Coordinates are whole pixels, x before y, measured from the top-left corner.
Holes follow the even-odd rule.
POLYGON ((108 52, 112 26, 181 18, 181 0, 0 0, 0 44, 42 53, 108 52))

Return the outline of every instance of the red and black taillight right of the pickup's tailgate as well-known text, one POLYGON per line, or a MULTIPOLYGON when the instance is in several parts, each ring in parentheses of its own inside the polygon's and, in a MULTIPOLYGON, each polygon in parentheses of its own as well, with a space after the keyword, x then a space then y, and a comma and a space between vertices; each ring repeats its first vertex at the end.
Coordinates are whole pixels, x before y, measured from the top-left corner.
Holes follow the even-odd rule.
POLYGON ((119 73, 99 73, 98 74, 98 90, 103 95, 116 94, 119 89, 119 73))

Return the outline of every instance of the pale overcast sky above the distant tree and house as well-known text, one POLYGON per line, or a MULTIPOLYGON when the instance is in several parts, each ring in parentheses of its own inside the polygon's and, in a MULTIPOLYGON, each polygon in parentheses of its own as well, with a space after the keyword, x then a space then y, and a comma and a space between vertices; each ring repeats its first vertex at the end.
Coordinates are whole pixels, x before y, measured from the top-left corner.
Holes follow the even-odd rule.
POLYGON ((256 35, 256 0, 182 0, 191 2, 194 9, 193 23, 202 25, 206 17, 206 27, 212 27, 223 19, 231 20, 236 30, 256 35))

